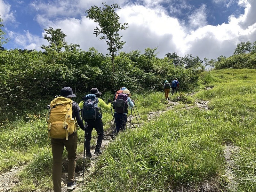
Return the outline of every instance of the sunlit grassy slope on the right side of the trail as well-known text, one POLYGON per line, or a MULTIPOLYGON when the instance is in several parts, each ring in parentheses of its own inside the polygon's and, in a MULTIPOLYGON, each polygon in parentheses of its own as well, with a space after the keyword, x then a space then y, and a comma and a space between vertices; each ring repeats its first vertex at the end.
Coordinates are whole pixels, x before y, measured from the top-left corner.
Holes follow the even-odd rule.
POLYGON ((210 100, 209 111, 177 106, 155 122, 127 131, 100 156, 84 191, 168 191, 203 188, 256 191, 256 70, 206 72, 210 90, 194 97, 210 100), (224 148, 232 145, 235 186, 225 172, 224 148))

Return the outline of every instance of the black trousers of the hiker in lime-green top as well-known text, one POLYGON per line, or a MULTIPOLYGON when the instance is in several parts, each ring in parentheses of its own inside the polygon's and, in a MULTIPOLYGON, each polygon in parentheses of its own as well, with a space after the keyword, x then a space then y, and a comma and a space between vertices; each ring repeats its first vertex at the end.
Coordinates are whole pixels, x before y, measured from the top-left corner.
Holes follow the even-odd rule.
POLYGON ((92 130, 93 128, 97 131, 98 134, 98 140, 96 144, 95 151, 99 151, 101 147, 101 142, 103 140, 104 136, 104 131, 103 131, 103 123, 101 119, 88 119, 86 120, 87 125, 88 125, 88 130, 86 134, 86 141, 85 141, 85 151, 86 153, 90 153, 90 148, 91 148, 91 139, 92 139, 92 130))

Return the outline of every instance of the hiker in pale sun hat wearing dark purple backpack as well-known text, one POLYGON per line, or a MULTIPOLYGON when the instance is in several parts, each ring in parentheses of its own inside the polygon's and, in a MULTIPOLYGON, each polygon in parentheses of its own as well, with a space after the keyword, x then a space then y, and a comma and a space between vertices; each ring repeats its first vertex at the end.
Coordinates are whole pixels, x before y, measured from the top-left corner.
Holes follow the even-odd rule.
POLYGON ((133 108, 134 106, 134 101, 130 97, 130 91, 125 89, 122 93, 118 94, 113 102, 116 130, 112 133, 112 136, 116 136, 120 130, 125 130, 126 128, 128 107, 133 108))

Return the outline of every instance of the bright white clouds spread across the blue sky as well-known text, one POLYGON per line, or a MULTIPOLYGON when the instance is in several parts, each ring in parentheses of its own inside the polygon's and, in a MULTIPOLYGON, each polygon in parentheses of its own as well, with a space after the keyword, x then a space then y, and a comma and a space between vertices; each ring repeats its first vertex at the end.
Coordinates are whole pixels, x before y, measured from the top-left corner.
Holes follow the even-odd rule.
MULTIPOLYGON (((1 0, 0 0, 1 1, 1 0)), ((61 10, 67 9, 67 1, 60 1, 56 6, 59 14, 61 10)), ((107 4, 109 4, 108 0, 107 4)), ((122 3, 126 2, 125 0, 122 3)), ((146 5, 152 0, 145 0, 146 5)), ((222 0, 222 2, 231 2, 222 0)), ((101 6, 101 2, 98 2, 101 6)), ((115 3, 115 2, 114 2, 115 3)), ((217 3, 217 0, 216 0, 217 3)), ((74 5, 79 5, 81 10, 90 8, 92 0, 76 0, 74 5)), ((113 2, 110 2, 113 4, 113 2)), ((119 4, 119 3, 118 3, 119 4)), ((130 52, 132 50, 140 50, 142 53, 147 47, 158 47, 158 57, 163 58, 168 52, 178 52, 178 55, 185 54, 198 55, 201 59, 208 57, 215 59, 220 55, 230 56, 233 54, 236 44, 240 41, 256 41, 256 1, 255 0, 239 0, 239 5, 245 7, 245 12, 239 17, 230 16, 227 23, 222 23, 218 26, 206 25, 207 7, 202 4, 189 16, 189 25, 186 26, 177 18, 169 16, 163 7, 136 5, 133 3, 121 6, 122 9, 117 13, 120 16, 120 23, 128 23, 128 29, 120 31, 123 40, 126 41, 124 48, 121 51, 130 52)), ((89 20, 84 15, 75 17, 54 17, 50 13, 41 14, 49 6, 53 4, 34 5, 38 9, 36 21, 42 28, 61 28, 67 35, 68 43, 80 44, 83 50, 88 50, 90 47, 95 47, 99 52, 108 53, 107 45, 104 41, 99 41, 93 32, 97 23, 89 20)), ((75 6, 71 6, 70 10, 74 11, 75 6)), ((77 9, 80 9, 77 8, 77 9)), ((188 7, 189 8, 189 7, 188 7)), ((80 11, 81 12, 81 11, 80 11)), ((72 12, 68 12, 67 14, 72 12)), ((72 14, 71 14, 72 15, 72 14)), ((42 30, 43 31, 43 30, 42 30)), ((41 36, 32 35, 28 31, 24 31, 22 35, 9 33, 13 37, 16 36, 15 42, 17 45, 27 49, 36 48, 41 44, 47 44, 47 41, 41 36)))

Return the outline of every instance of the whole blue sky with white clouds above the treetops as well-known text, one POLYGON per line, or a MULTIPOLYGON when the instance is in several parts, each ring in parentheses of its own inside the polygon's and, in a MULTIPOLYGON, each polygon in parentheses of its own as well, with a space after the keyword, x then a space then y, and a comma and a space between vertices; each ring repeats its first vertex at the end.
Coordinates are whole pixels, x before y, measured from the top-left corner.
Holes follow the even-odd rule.
MULTIPOLYGON (((144 53, 156 48, 158 58, 177 52, 217 59, 233 55, 236 44, 256 41, 256 0, 105 0, 116 10, 126 30, 122 52, 144 53)), ((96 22, 86 18, 98 0, 0 0, 2 30, 10 40, 5 49, 36 49, 48 44, 44 28, 61 28, 68 44, 88 51, 94 47, 107 54, 107 44, 94 33, 96 22)))

